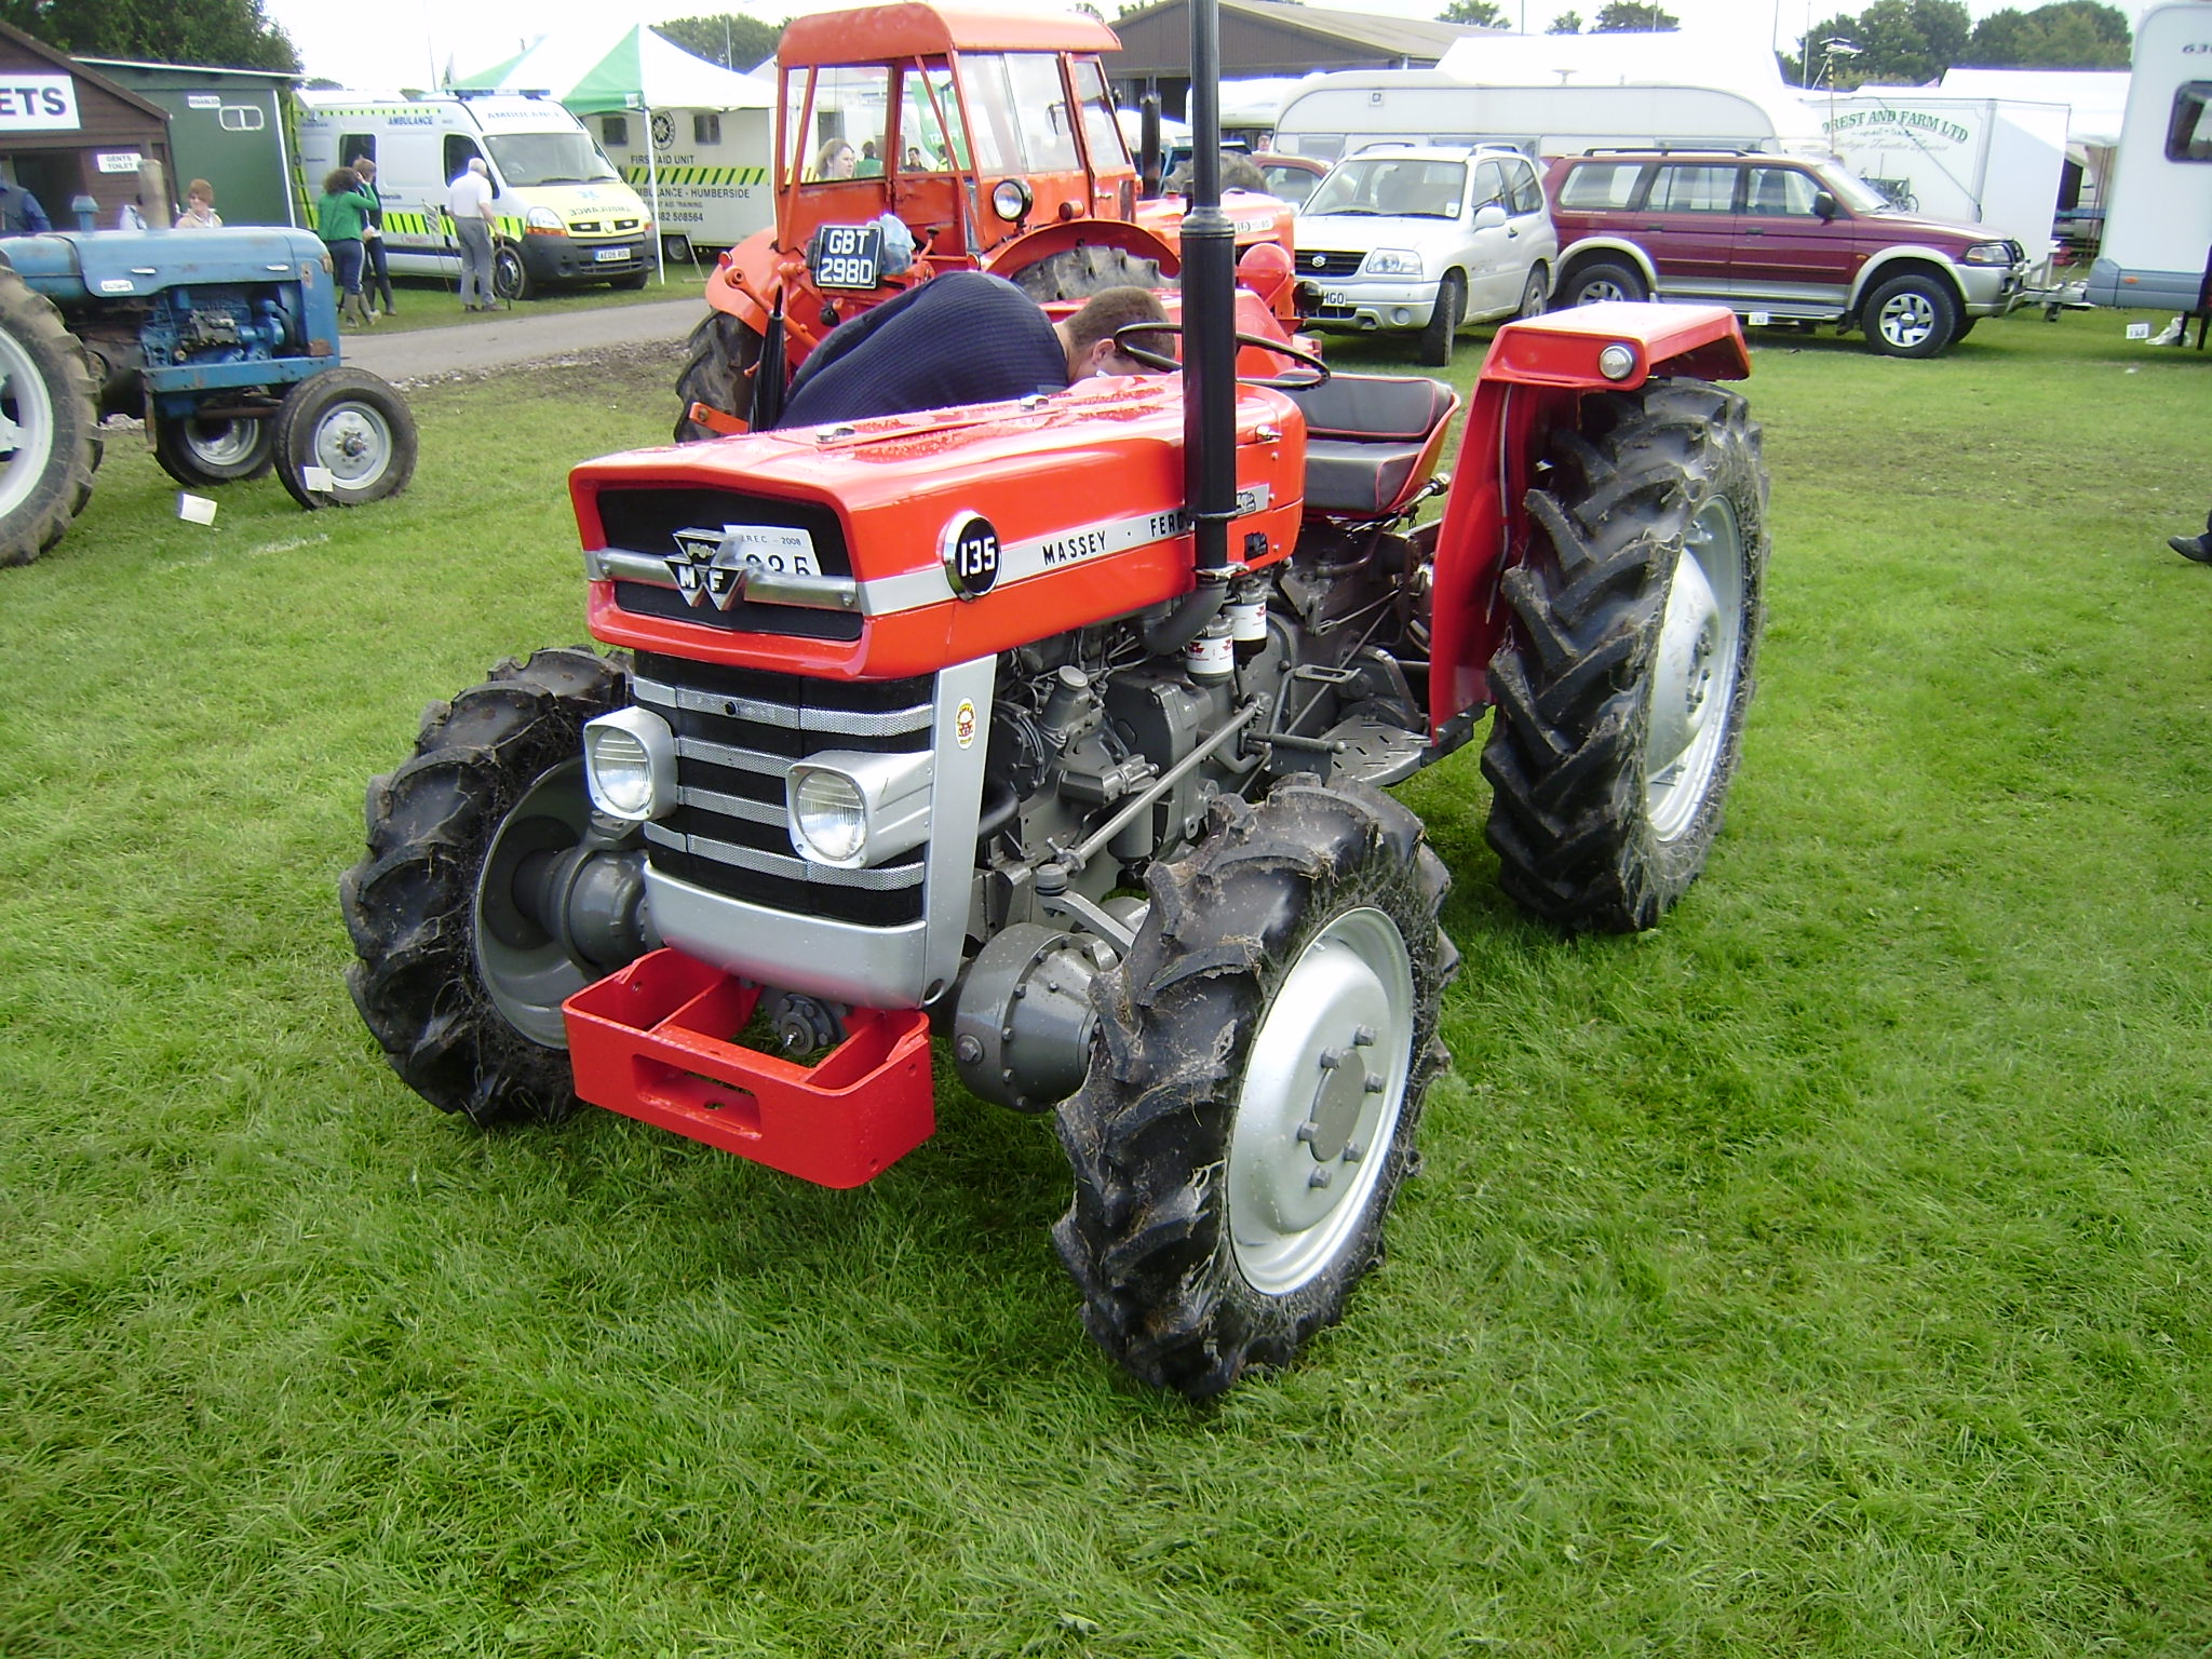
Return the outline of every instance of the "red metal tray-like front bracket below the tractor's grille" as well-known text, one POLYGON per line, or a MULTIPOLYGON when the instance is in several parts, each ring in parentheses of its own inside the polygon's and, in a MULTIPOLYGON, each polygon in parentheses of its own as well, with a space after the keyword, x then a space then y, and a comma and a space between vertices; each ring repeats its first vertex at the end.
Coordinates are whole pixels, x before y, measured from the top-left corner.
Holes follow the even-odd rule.
POLYGON ((562 1004, 575 1093, 818 1186, 883 1175, 938 1126, 929 1015, 856 1009, 814 1066, 734 1042, 761 987, 653 951, 562 1004))

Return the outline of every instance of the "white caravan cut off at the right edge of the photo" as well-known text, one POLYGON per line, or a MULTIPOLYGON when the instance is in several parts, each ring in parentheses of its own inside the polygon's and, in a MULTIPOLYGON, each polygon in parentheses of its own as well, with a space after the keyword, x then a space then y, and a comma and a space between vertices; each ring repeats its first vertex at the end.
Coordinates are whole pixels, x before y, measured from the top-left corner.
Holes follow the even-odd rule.
POLYGON ((2212 0, 2150 7, 2088 272, 2095 305, 2185 312, 2212 257, 2212 0))

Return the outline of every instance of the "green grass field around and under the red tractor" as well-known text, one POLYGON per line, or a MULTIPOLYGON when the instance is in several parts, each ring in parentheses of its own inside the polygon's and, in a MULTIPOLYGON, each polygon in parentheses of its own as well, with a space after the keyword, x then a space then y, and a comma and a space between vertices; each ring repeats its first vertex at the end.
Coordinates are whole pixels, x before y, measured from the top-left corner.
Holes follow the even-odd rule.
MULTIPOLYGON (((1332 347, 1340 365, 1402 356, 1332 347)), ((1471 378, 1469 341, 1458 374, 1471 378)), ((582 637, 672 361, 416 396, 398 502, 133 438, 0 573, 0 1655, 2203 1655, 2212 358, 1761 336, 1761 695, 1663 929, 1517 920, 1473 754, 1391 1259, 1212 1409, 1084 1338, 1044 1124, 834 1194, 385 1071, 334 883, 582 637)))

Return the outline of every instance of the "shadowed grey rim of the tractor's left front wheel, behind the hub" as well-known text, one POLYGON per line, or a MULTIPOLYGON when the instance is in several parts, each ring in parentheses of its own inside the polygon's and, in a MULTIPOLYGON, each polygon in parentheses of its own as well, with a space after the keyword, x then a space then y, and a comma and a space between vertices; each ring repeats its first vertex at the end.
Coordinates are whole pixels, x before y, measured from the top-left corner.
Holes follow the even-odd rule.
POLYGON ((560 1004, 591 984, 591 978, 538 925, 515 887, 542 863, 540 854, 568 852, 588 827, 591 794, 577 757, 555 765, 515 803, 491 838, 476 878, 469 931, 478 978, 507 1024, 546 1048, 568 1046, 560 1004))

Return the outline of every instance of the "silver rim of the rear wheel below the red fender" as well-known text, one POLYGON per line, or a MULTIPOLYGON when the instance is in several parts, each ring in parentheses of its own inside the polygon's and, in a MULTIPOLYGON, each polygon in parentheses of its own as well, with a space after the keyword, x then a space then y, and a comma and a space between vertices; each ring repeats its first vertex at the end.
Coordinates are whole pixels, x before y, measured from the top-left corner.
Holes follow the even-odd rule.
POLYGON ((1644 810, 1659 841, 1697 818, 1721 763, 1743 648, 1743 526, 1725 495, 1690 518, 1674 557, 1644 743, 1644 810))

